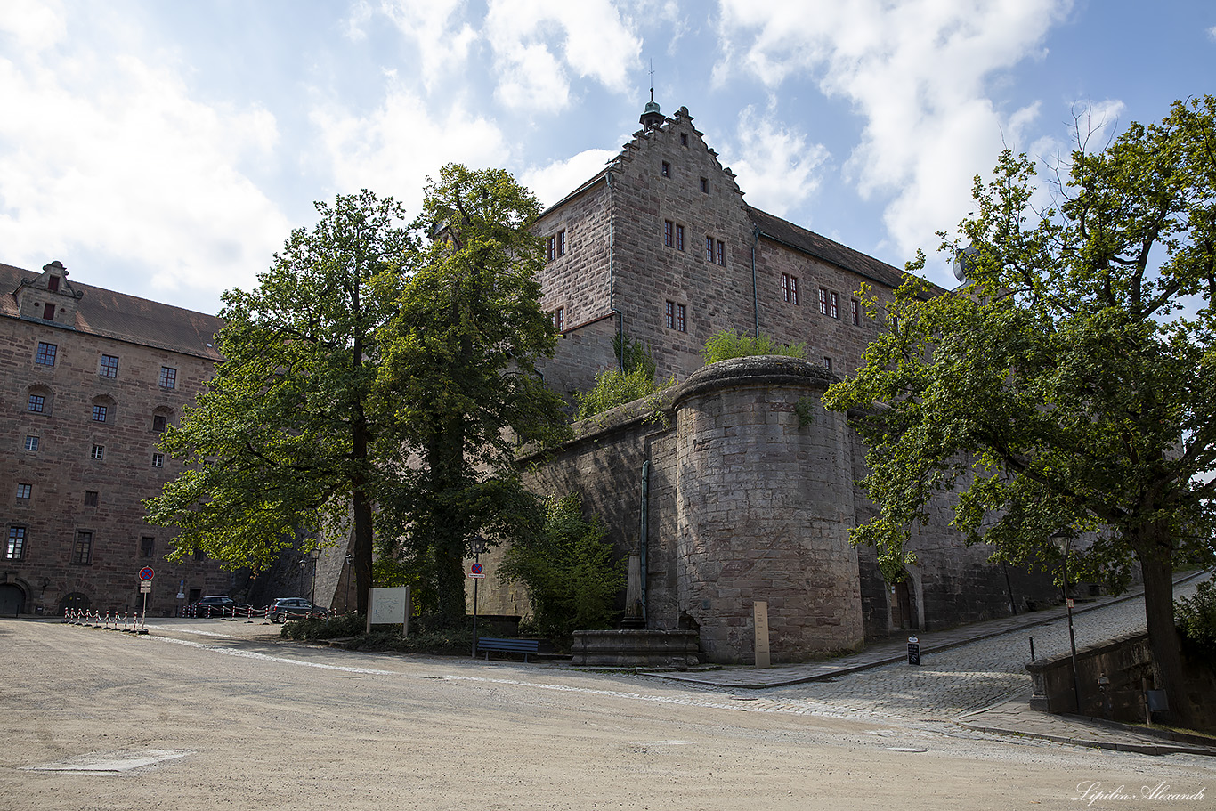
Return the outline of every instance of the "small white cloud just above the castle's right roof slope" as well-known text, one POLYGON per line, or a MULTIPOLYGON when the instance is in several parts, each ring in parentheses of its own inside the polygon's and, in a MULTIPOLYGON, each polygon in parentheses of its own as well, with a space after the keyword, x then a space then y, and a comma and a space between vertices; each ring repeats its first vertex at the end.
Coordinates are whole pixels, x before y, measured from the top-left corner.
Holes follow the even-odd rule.
POLYGON ((739 187, 749 203, 778 216, 804 203, 820 185, 817 171, 828 159, 822 143, 781 126, 773 109, 761 116, 754 107, 739 113, 738 151, 732 160, 739 187))

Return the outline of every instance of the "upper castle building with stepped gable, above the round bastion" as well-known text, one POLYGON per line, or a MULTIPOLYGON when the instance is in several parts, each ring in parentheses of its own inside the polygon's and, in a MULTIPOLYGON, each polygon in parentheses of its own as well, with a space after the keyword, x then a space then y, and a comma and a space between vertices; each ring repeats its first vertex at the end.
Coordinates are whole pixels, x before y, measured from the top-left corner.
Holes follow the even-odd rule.
POLYGON ((692 122, 649 102, 620 154, 540 219, 541 304, 563 338, 545 373, 559 392, 585 392, 615 365, 618 332, 680 381, 724 330, 804 343, 844 372, 883 328, 857 291, 889 298, 902 271, 747 204, 692 122))

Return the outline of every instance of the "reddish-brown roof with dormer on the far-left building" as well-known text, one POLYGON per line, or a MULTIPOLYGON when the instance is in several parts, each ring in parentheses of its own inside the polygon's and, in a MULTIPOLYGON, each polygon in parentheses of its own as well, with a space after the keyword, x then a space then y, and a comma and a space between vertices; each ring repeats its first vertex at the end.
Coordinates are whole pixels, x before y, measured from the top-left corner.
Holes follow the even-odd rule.
MULTIPOLYGON (((21 319, 16 291, 23 281, 32 282, 39 276, 38 271, 0 264, 0 316, 21 319)), ((73 321, 33 321, 142 347, 223 360, 213 344, 224 321, 214 315, 81 285, 75 280, 72 288, 83 293, 73 321)), ((22 291, 22 295, 30 294, 38 295, 39 292, 29 287, 22 291)))

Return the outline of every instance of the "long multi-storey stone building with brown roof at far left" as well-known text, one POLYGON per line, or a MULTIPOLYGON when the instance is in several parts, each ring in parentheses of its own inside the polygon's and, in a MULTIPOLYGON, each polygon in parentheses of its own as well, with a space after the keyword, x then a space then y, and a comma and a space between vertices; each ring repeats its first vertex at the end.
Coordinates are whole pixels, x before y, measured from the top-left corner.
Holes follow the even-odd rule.
POLYGON ((181 472, 157 438, 210 378, 220 326, 58 261, 0 265, 0 615, 142 609, 145 567, 150 614, 229 591, 214 562, 165 561, 170 531, 141 503, 181 472))

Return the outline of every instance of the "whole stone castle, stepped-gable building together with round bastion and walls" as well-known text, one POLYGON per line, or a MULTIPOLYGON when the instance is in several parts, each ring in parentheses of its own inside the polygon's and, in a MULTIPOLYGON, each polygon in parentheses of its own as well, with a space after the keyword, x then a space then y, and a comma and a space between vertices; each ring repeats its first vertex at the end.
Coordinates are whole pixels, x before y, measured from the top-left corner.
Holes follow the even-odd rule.
MULTIPOLYGON (((913 528, 918 562, 897 582, 872 548, 849 545, 874 513, 856 485, 865 447, 820 398, 861 366, 902 274, 749 205, 687 108, 669 118, 652 101, 640 123, 540 218, 541 304, 561 332, 541 370, 563 394, 586 392, 618 365, 614 339, 636 340, 676 385, 662 405, 576 424, 556 454, 528 460, 525 479, 540 494, 579 492, 618 552, 640 557, 647 627, 697 629, 709 660, 750 661, 764 602, 773 661, 792 661, 1049 598, 1045 578, 966 546, 945 499, 913 528), (807 360, 705 367, 704 344, 722 331, 805 344, 807 360)), ((482 557, 483 610, 527 614, 522 588, 494 576, 500 554, 482 557)))

